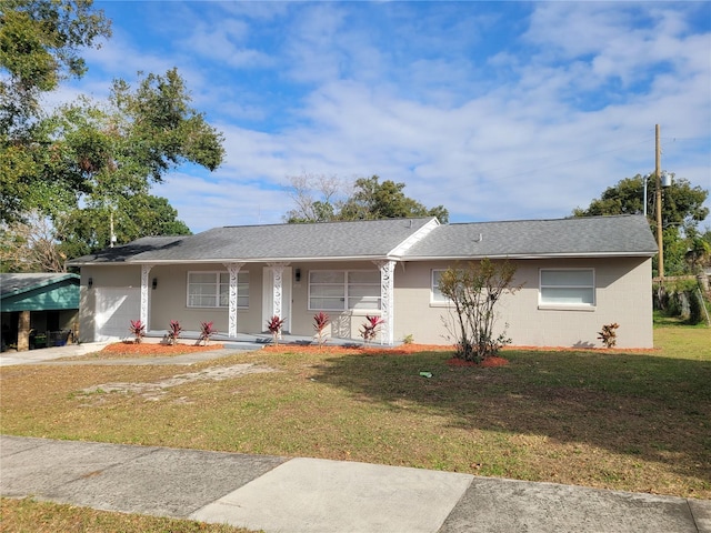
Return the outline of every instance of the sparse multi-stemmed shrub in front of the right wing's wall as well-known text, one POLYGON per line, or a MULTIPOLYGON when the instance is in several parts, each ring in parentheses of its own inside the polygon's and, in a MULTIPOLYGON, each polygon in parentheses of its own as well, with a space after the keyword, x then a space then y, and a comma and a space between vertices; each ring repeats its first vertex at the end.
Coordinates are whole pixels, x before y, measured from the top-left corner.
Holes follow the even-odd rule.
POLYGON ((505 328, 498 335, 494 332, 495 309, 503 294, 514 294, 523 286, 513 284, 515 271, 509 261, 493 262, 484 258, 442 272, 439 288, 454 309, 448 326, 454 336, 457 358, 480 363, 497 355, 501 346, 510 342, 505 328))

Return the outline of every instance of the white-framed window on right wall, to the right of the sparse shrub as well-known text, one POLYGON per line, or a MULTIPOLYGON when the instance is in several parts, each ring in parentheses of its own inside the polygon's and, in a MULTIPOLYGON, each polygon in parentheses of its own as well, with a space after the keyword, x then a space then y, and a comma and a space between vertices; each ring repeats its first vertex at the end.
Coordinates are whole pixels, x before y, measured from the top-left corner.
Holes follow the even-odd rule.
POLYGON ((595 275, 593 269, 541 269, 541 305, 593 308, 595 275))

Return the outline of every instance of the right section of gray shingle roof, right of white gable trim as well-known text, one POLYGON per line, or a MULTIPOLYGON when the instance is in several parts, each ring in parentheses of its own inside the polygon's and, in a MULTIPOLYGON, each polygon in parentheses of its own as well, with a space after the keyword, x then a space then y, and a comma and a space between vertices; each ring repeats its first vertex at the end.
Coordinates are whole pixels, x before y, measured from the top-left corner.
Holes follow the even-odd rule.
POLYGON ((408 250, 408 260, 503 257, 653 255, 642 215, 585 217, 440 225, 408 250))

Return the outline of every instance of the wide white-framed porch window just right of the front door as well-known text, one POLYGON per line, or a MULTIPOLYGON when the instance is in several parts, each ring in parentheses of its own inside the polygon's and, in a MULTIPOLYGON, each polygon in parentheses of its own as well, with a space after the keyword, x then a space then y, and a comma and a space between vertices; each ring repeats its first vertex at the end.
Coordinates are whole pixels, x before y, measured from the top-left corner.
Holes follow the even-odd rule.
POLYGON ((379 310, 380 304, 378 270, 309 271, 309 310, 379 310))

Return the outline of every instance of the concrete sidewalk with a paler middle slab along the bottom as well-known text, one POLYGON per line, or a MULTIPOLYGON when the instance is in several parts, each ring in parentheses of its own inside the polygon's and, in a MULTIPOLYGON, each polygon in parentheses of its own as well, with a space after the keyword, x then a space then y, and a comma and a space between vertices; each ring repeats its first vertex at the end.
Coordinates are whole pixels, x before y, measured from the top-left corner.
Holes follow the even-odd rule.
POLYGON ((0 435, 0 494, 267 533, 711 533, 711 501, 318 459, 0 435))

